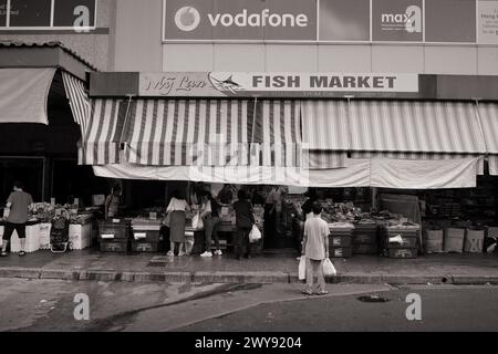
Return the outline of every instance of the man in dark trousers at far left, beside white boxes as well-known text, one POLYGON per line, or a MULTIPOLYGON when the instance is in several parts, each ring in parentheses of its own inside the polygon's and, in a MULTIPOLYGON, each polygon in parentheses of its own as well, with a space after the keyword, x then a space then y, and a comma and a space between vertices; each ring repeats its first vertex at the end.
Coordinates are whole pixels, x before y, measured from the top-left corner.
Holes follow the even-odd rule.
POLYGON ((1 257, 7 257, 7 244, 12 237, 13 231, 18 231, 21 250, 19 256, 25 256, 25 223, 28 222, 28 214, 33 207, 33 198, 30 194, 23 191, 23 185, 20 181, 14 183, 13 191, 7 199, 7 222, 3 232, 3 244, 1 257))

